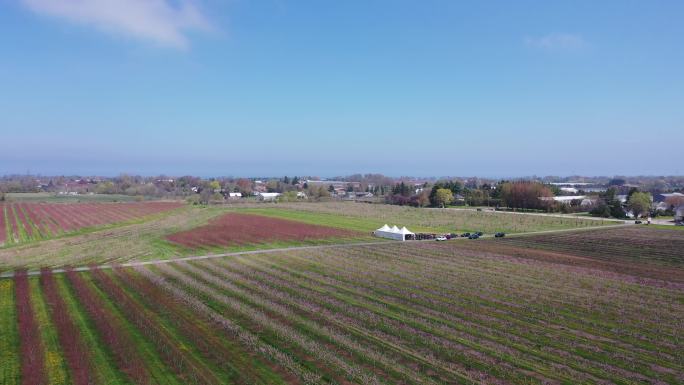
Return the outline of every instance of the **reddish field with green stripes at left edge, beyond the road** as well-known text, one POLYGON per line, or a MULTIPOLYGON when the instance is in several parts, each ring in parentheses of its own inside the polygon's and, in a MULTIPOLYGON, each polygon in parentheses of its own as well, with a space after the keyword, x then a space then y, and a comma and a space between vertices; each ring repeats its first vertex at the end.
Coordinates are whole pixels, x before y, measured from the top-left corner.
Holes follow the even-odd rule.
POLYGON ((179 202, 4 203, 0 204, 0 245, 125 222, 182 205, 179 202))

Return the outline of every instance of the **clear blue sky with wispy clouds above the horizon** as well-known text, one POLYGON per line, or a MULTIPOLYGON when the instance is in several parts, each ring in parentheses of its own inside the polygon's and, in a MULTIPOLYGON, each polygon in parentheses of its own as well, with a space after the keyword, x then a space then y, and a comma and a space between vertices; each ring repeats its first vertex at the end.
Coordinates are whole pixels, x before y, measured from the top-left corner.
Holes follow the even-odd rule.
POLYGON ((5 0, 0 174, 684 174, 682 1, 5 0))

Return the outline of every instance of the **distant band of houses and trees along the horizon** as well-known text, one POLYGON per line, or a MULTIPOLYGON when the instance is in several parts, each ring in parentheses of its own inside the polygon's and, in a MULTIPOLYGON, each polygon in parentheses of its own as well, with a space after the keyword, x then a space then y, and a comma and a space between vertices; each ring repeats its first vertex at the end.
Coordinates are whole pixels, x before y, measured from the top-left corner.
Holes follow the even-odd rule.
POLYGON ((55 199, 120 195, 122 200, 184 199, 192 204, 241 202, 361 201, 414 207, 481 207, 604 218, 653 218, 681 222, 684 177, 478 177, 415 178, 355 174, 334 178, 284 176, 35 176, 0 178, 0 199, 13 194, 55 199))

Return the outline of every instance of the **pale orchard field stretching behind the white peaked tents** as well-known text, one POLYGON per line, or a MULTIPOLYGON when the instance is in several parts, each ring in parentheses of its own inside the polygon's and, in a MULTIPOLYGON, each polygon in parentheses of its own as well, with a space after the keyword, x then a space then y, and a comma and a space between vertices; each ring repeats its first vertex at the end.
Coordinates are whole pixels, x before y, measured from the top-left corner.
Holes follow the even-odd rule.
POLYGON ((356 202, 279 203, 248 211, 284 219, 370 232, 383 224, 406 226, 414 232, 530 231, 614 225, 611 220, 510 214, 492 211, 440 210, 356 202))

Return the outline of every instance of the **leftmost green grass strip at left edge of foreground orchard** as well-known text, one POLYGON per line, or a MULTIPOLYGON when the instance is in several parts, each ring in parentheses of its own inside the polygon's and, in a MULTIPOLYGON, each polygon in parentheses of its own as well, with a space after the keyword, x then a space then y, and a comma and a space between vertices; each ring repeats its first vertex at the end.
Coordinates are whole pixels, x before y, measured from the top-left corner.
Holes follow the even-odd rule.
POLYGON ((0 280, 0 383, 18 385, 20 382, 19 331, 14 304, 14 281, 0 280))

